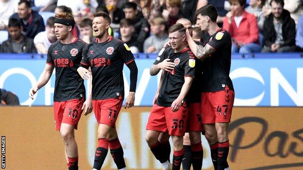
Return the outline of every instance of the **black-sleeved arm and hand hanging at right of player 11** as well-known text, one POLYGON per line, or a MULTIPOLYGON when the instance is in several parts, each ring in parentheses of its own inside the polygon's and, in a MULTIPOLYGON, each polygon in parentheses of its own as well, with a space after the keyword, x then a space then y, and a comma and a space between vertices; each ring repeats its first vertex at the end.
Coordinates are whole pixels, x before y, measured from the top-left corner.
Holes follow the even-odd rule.
POLYGON ((131 108, 134 106, 135 103, 135 90, 136 90, 137 77, 138 77, 138 67, 135 63, 135 60, 127 63, 126 65, 130 69, 131 84, 130 84, 130 92, 128 93, 128 96, 126 98, 124 108, 131 108))

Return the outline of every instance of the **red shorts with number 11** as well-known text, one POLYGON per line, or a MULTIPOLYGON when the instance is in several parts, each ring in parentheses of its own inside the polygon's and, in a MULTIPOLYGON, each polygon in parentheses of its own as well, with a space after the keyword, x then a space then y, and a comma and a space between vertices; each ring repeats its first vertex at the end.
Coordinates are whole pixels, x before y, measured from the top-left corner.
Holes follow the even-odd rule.
POLYGON ((123 102, 122 97, 118 99, 93 100, 92 102, 98 124, 107 124, 115 128, 123 102))

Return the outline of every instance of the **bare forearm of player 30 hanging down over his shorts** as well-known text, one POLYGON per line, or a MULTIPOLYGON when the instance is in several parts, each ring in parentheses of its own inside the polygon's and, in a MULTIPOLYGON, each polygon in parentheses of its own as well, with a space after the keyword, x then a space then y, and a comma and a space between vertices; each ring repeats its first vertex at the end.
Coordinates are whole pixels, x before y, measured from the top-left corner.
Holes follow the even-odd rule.
POLYGON ((184 77, 184 80, 185 81, 182 86, 181 93, 179 94, 178 98, 176 100, 174 100, 171 104, 172 112, 178 111, 179 108, 181 107, 182 101, 184 100, 186 94, 188 93, 188 91, 190 89, 191 83, 193 81, 193 77, 186 76, 186 77, 184 77))

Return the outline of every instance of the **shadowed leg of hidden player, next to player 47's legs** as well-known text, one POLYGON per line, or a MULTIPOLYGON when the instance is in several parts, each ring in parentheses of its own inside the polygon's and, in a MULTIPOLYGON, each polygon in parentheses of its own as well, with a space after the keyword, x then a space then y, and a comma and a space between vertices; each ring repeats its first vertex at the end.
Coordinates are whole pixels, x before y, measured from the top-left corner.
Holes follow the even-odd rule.
POLYGON ((192 166, 194 170, 202 169, 203 148, 200 131, 189 131, 189 138, 192 151, 192 166))

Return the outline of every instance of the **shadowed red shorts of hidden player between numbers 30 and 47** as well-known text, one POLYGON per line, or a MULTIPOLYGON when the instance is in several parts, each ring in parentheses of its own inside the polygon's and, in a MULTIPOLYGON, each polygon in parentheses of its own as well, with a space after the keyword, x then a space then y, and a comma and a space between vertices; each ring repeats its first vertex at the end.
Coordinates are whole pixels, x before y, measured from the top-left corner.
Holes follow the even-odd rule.
POLYGON ((189 103, 187 104, 188 110, 188 119, 186 131, 199 131, 204 130, 202 124, 202 115, 201 115, 201 104, 200 103, 189 103))

